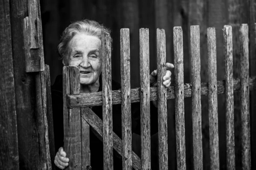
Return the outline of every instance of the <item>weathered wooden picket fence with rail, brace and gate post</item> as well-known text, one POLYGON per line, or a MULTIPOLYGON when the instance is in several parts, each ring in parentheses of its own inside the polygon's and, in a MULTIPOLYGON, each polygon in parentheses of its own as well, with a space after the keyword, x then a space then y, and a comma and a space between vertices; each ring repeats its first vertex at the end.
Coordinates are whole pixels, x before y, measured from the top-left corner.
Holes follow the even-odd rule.
MULTIPOLYGON (((183 37, 181 27, 174 27, 175 85, 162 85, 166 73, 166 35, 157 29, 157 82, 149 85, 149 31, 140 29, 140 88, 130 88, 130 39, 129 29, 120 32, 121 90, 111 91, 111 37, 102 34, 102 91, 79 94, 80 74, 75 66, 63 69, 64 147, 70 158, 69 169, 86 169, 90 166, 89 127, 103 141, 104 170, 113 169, 113 149, 122 156, 124 170, 151 169, 150 152, 150 101, 158 104, 159 169, 168 170, 167 99, 175 99, 177 169, 186 170, 184 98, 192 97, 193 158, 194 168, 203 169, 201 127, 201 96, 208 96, 210 168, 219 169, 218 105, 217 95, 225 94, 227 169, 235 169, 234 102, 233 92, 240 91, 242 167, 251 169, 249 91, 256 89, 256 77, 249 77, 248 26, 240 27, 241 75, 233 79, 232 27, 224 26, 225 80, 217 81, 215 28, 207 29, 208 82, 200 79, 200 28, 191 26, 190 53, 192 83, 183 82, 183 37), (131 103, 140 102, 141 159, 131 152, 131 103), (122 105, 122 140, 112 133, 112 105, 122 105), (89 107, 102 105, 103 120, 89 107), (82 119, 81 119, 82 118, 82 119)), ((121 114, 121 113, 120 113, 121 114)), ((93 168, 93 167, 92 167, 93 168)))

